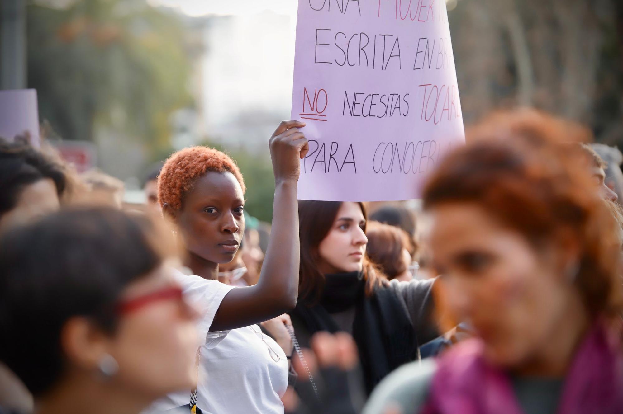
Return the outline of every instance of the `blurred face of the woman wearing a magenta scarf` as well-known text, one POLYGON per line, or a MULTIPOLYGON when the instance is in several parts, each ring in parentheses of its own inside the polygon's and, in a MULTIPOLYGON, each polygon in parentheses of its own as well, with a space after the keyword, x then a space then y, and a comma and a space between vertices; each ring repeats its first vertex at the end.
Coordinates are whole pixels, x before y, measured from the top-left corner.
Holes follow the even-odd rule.
POLYGON ((475 204, 439 205, 430 215, 432 261, 450 311, 471 324, 495 364, 535 358, 565 322, 573 289, 553 247, 537 252, 475 204))

